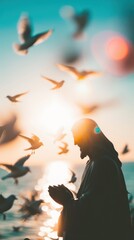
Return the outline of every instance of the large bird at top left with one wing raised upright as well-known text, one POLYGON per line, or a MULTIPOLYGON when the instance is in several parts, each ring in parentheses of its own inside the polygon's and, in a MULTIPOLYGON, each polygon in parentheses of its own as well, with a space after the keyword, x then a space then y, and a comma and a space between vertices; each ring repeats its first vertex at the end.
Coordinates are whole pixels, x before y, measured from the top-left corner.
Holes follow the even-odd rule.
POLYGON ((18 22, 18 34, 20 37, 21 44, 14 44, 13 49, 18 54, 26 55, 28 49, 33 46, 40 44, 51 36, 53 30, 48 30, 42 33, 38 33, 32 36, 32 26, 27 15, 20 17, 18 22))

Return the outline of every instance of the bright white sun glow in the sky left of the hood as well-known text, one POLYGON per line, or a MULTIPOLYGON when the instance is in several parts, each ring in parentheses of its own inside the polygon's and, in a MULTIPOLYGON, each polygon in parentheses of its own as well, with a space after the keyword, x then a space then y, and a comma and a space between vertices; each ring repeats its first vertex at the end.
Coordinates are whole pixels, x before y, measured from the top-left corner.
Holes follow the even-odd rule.
POLYGON ((46 130, 50 134, 55 134, 61 127, 69 128, 74 121, 74 113, 71 105, 69 105, 61 97, 51 97, 46 106, 40 105, 31 118, 33 124, 36 123, 40 129, 46 130), (39 117, 40 116, 40 117, 39 117))

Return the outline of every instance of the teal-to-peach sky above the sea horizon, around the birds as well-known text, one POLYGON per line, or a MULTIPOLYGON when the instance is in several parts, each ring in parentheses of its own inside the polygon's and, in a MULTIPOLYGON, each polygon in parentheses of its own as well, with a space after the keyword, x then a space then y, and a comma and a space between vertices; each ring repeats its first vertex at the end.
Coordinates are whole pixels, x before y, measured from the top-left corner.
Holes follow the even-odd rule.
MULTIPOLYGON (((134 159, 134 2, 131 0, 1 0, 0 1, 0 124, 11 112, 18 114, 22 133, 36 134, 44 146, 36 150, 29 164, 65 160, 80 162, 79 150, 73 145, 71 124, 85 117, 78 108, 81 104, 104 104, 86 117, 94 119, 113 142, 122 161, 134 159), (71 11, 88 10, 89 24, 81 39, 72 37, 75 23, 71 11), (33 35, 53 29, 52 35, 39 45, 29 48, 27 55, 13 49, 19 43, 17 24, 27 14, 33 35), (66 56, 77 53, 77 61, 67 64, 66 56), (67 64, 79 70, 95 70, 102 74, 78 81, 56 64, 67 64), (42 75, 57 81, 65 80, 58 90, 42 75), (28 93, 19 103, 6 96, 28 93), (110 104, 109 104, 110 103, 110 104), (64 127, 69 144, 67 154, 57 154, 59 145, 53 136, 64 127), (121 155, 125 144, 130 152, 121 155)), ((18 137, 14 142, 0 146, 4 162, 15 162, 26 154, 28 142, 18 137)))

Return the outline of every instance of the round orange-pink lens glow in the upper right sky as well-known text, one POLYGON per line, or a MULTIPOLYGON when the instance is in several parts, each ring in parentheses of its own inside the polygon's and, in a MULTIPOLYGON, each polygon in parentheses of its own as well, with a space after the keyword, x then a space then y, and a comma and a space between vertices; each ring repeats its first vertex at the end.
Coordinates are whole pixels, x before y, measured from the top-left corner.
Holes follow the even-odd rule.
POLYGON ((124 59, 128 52, 129 46, 123 37, 112 37, 106 44, 106 53, 113 60, 124 59))

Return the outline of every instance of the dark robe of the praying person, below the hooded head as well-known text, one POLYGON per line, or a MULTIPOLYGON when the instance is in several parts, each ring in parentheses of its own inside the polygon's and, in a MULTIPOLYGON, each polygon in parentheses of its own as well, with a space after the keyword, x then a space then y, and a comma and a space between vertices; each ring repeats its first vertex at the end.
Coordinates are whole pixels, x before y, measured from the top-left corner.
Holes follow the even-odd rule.
POLYGON ((63 207, 58 234, 64 240, 132 240, 121 165, 109 156, 87 162, 77 200, 63 207))

